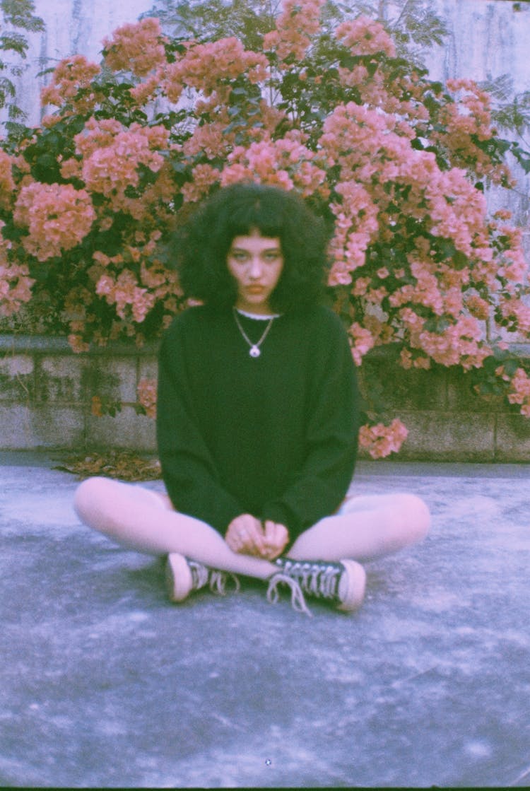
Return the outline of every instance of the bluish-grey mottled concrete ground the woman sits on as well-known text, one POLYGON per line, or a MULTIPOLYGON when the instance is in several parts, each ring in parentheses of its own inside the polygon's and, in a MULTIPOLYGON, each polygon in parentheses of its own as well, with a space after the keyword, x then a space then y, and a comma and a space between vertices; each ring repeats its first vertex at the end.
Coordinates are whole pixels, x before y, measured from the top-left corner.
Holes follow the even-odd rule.
POLYGON ((530 467, 359 464, 432 532, 310 619, 256 584, 168 604, 53 464, 0 454, 0 785, 530 784, 530 467))

